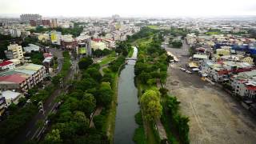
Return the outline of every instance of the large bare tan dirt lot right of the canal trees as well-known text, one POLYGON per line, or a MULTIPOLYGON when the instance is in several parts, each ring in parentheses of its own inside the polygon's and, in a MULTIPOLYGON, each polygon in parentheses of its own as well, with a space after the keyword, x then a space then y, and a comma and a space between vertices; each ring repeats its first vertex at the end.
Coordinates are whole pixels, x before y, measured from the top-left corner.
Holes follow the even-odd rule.
MULTIPOLYGON (((173 54, 184 55, 185 50, 167 49, 173 54)), ((188 57, 171 65, 166 88, 178 97, 182 114, 190 118, 191 143, 256 143, 256 121, 229 94, 202 81, 198 74, 186 74, 178 69, 188 57)))

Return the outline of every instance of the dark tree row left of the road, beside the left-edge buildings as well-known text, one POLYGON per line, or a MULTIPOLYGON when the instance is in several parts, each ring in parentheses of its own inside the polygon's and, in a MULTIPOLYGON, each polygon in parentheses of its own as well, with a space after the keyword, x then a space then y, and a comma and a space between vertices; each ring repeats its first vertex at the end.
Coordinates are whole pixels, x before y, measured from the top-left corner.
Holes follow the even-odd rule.
POLYGON ((58 74, 52 78, 53 84, 46 86, 44 89, 39 89, 40 86, 35 86, 28 91, 26 98, 21 99, 22 102, 19 102, 19 104, 22 103, 22 105, 19 105, 19 107, 10 107, 12 109, 12 114, 0 124, 1 142, 11 142, 14 137, 22 130, 26 122, 29 121, 30 118, 32 118, 34 114, 38 112, 38 102, 44 102, 46 98, 49 98, 58 86, 59 78, 66 77, 68 70, 70 70, 70 54, 65 51, 63 52, 63 56, 64 62, 62 65, 61 74, 58 74), (26 106, 24 106, 26 99, 28 98, 30 98, 31 103, 27 103, 26 106))

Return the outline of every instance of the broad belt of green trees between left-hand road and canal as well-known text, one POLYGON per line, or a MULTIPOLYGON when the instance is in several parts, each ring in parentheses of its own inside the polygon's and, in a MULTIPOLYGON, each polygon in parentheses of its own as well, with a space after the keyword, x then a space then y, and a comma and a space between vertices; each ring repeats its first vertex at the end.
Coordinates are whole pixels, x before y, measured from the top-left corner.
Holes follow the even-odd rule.
POLYGON ((42 143, 109 143, 105 127, 114 95, 114 73, 124 60, 121 55, 111 62, 103 76, 92 58, 78 62, 81 79, 74 80, 69 93, 62 96, 63 104, 51 119, 53 126, 42 143), (94 117, 95 127, 90 127, 90 115, 97 107, 103 107, 102 113, 94 117))

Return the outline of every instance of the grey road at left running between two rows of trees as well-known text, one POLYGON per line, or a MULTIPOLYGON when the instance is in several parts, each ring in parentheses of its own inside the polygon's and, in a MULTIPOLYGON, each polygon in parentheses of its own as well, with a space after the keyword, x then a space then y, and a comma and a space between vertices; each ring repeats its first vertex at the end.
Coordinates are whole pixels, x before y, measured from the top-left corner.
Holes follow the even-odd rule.
POLYGON ((59 94, 62 94, 63 92, 66 92, 68 88, 68 82, 71 79, 74 79, 74 75, 78 73, 78 59, 74 59, 71 56, 72 66, 70 67, 69 74, 64 78, 64 88, 59 88, 57 90, 54 90, 54 93, 50 95, 49 98, 46 99, 46 102, 44 102, 43 107, 45 110, 45 114, 42 114, 41 112, 38 112, 34 116, 34 118, 31 119, 30 122, 24 126, 24 130, 20 134, 18 134, 18 137, 14 139, 14 142, 12 143, 22 143, 26 142, 29 139, 36 139, 39 138, 39 134, 42 132, 42 128, 38 128, 37 123, 40 121, 45 121, 46 116, 53 112, 55 109, 55 106, 57 106, 57 102, 55 102, 55 99, 58 97, 59 94))

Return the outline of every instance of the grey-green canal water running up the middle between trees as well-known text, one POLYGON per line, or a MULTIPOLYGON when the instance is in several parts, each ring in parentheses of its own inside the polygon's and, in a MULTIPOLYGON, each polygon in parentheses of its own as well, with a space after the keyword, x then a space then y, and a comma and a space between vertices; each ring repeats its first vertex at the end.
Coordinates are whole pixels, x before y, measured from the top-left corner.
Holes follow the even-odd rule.
MULTIPOLYGON (((134 47, 132 58, 137 58, 134 47)), ((134 86, 135 60, 129 60, 121 71, 118 81, 118 108, 115 118, 114 144, 132 144, 134 130, 138 127, 134 115, 138 113, 138 90, 134 86)))

